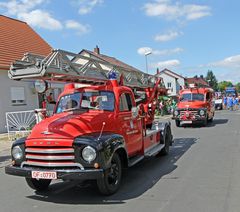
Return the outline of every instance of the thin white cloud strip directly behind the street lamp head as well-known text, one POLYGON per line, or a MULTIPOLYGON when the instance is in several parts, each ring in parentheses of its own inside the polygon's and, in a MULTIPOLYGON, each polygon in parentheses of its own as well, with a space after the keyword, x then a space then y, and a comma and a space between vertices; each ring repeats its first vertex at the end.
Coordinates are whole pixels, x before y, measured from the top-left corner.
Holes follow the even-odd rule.
POLYGON ((156 50, 150 47, 141 47, 137 50, 138 54, 140 55, 145 55, 146 52, 152 52, 152 54, 156 56, 168 56, 168 55, 180 53, 182 51, 183 51, 182 48, 156 50))

